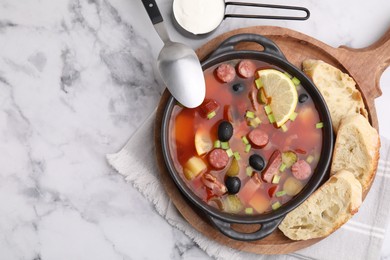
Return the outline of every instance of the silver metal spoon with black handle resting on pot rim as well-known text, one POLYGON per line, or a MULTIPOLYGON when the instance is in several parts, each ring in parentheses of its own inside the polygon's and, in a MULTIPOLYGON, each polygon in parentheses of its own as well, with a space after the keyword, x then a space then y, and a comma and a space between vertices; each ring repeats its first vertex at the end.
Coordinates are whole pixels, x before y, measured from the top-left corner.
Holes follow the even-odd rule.
POLYGON ((157 67, 164 84, 183 106, 199 106, 206 95, 206 84, 198 56, 187 45, 170 40, 156 1, 142 0, 142 3, 164 42, 157 58, 157 67))

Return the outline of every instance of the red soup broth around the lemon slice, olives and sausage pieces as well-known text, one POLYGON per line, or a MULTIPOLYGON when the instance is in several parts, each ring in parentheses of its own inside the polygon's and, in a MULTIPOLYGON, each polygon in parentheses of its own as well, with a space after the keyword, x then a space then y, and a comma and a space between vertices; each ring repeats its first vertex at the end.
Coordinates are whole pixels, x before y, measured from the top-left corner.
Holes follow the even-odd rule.
MULTIPOLYGON (((237 70, 239 62, 232 60, 228 64, 237 70)), ((257 70, 274 68, 283 72, 264 62, 250 62, 257 70)), ((322 145, 318 111, 310 95, 298 83, 297 116, 293 121, 288 120, 284 129, 277 128, 270 123, 265 105, 257 98, 256 73, 244 78, 237 72, 233 81, 224 83, 216 73, 219 65, 204 71, 206 98, 201 106, 189 109, 177 104, 172 110, 169 149, 175 168, 200 199, 221 211, 262 214, 277 210, 303 189, 317 167, 322 145), (241 85, 233 87, 235 84, 241 85), (247 111, 253 112, 250 116, 259 120, 251 123, 253 118, 248 118, 247 111), (233 126, 233 135, 227 142, 218 140, 218 126, 222 121, 228 121, 233 126), (266 134, 268 143, 265 146, 260 148, 253 145, 249 138, 253 129, 261 129, 266 134), (203 140, 201 154, 196 149, 196 135, 203 140), (223 143, 224 147, 221 147, 223 143), (228 162, 222 169, 210 163, 211 153, 215 149, 222 149, 228 154, 228 162), (274 157, 279 154, 279 160, 271 160, 274 153, 274 157), (263 158, 263 169, 251 167, 249 158, 253 154, 263 158), (292 161, 289 163, 286 158, 292 158, 292 161), (235 171, 232 174, 229 169, 233 164, 235 171), (267 167, 272 164, 277 170, 273 171, 272 180, 268 178, 267 181, 267 167), (231 186, 227 181, 231 178, 228 175, 238 178, 239 185, 235 180, 236 185, 228 189, 231 186)))

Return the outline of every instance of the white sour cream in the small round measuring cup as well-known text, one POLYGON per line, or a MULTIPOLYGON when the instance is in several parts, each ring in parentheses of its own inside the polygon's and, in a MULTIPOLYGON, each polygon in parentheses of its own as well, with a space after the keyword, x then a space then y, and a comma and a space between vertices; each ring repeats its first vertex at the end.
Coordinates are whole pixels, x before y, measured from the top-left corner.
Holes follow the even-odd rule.
POLYGON ((173 15, 177 23, 193 34, 209 33, 225 16, 223 0, 174 0, 173 15))

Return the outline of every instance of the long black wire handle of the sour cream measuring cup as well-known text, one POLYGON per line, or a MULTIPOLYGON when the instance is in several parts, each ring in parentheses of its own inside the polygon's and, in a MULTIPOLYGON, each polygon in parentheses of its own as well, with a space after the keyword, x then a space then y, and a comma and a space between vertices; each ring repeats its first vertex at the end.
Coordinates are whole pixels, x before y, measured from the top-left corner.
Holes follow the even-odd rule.
POLYGON ((279 15, 247 15, 247 14, 226 14, 225 13, 225 18, 230 17, 230 18, 253 18, 253 19, 274 19, 274 20, 307 20, 310 17, 310 11, 307 8, 300 7, 300 6, 255 4, 255 3, 242 3, 242 2, 225 3, 225 6, 228 5, 303 11, 306 13, 306 15, 305 16, 279 16, 279 15))

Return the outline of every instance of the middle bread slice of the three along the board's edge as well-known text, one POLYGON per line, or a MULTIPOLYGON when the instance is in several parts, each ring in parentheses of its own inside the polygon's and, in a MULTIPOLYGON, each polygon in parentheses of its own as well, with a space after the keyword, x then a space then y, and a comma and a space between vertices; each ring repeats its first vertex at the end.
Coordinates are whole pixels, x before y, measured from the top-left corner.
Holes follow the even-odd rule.
POLYGON ((337 132, 331 175, 345 169, 353 172, 365 192, 371 185, 379 160, 378 132, 362 115, 345 117, 337 132))

